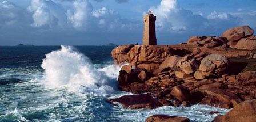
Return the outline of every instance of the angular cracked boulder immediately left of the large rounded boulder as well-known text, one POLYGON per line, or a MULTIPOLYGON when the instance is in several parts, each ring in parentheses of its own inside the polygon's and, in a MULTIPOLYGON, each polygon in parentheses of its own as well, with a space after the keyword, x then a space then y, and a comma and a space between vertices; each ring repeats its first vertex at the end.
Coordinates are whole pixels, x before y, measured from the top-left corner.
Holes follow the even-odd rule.
POLYGON ((186 74, 194 73, 199 68, 199 61, 190 56, 185 56, 176 64, 178 68, 184 71, 186 74))

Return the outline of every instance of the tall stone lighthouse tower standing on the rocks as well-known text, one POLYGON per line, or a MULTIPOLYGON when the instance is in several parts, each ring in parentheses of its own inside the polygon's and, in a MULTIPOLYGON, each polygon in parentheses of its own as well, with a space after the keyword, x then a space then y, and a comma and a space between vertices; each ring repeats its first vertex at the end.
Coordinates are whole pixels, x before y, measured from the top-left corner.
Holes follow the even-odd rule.
POLYGON ((144 30, 143 30, 143 39, 142 45, 157 45, 157 37, 155 36, 155 20, 157 17, 154 14, 149 14, 143 16, 144 30))

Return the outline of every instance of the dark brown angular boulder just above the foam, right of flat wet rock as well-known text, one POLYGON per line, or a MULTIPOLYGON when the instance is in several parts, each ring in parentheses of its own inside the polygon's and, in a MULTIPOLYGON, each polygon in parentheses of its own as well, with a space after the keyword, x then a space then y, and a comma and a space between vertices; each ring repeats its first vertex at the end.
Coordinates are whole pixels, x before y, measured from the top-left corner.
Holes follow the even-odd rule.
POLYGON ((171 90, 171 95, 177 98, 180 102, 189 100, 189 94, 190 90, 183 85, 175 86, 173 87, 173 90, 171 90))

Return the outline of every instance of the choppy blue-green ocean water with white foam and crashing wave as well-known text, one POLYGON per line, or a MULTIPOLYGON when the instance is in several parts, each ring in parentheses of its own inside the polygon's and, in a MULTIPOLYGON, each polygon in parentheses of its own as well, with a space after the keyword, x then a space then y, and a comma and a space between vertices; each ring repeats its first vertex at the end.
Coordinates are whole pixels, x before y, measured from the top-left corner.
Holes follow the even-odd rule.
POLYGON ((145 121, 155 114, 211 121, 229 110, 194 105, 126 110, 107 103, 119 66, 101 46, 0 47, 0 121, 145 121))

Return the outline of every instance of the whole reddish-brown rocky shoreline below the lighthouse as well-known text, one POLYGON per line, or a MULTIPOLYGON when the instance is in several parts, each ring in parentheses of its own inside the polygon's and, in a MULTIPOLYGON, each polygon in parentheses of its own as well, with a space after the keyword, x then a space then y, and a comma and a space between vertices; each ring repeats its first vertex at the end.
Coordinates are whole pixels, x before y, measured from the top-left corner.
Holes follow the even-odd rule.
POLYGON ((109 102, 128 109, 191 104, 229 109, 256 99, 253 33, 249 26, 240 26, 221 37, 193 36, 175 46, 118 46, 111 52, 115 65, 128 63, 120 71, 119 89, 138 95, 109 102))

